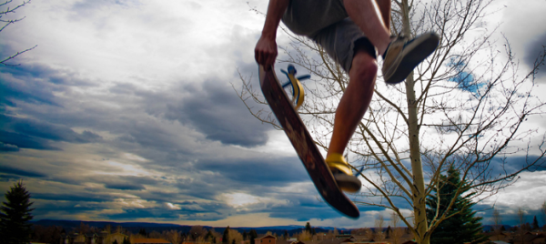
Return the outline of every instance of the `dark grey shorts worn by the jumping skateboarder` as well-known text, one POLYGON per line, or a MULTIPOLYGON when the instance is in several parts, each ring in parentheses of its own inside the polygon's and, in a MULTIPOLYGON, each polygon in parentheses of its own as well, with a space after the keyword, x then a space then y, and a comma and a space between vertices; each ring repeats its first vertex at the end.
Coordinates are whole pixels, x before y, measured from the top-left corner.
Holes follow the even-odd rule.
POLYGON ((282 22, 322 46, 348 73, 355 47, 377 57, 376 48, 347 15, 343 0, 290 0, 282 22))

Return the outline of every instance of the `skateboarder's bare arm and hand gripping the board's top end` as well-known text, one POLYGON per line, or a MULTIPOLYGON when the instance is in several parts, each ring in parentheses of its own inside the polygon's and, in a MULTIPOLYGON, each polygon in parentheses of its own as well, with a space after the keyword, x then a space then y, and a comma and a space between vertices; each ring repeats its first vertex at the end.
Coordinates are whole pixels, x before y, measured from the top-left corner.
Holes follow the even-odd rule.
POLYGON ((289 0, 269 0, 266 23, 254 49, 256 62, 264 66, 266 70, 275 64, 277 58, 277 28, 280 18, 288 7, 288 3, 289 0))

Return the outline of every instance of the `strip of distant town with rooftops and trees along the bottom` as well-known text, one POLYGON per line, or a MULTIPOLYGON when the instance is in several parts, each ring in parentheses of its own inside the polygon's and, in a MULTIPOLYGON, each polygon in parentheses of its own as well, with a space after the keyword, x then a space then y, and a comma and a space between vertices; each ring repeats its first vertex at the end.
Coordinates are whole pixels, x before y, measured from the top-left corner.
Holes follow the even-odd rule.
MULTIPOLYGON (((230 228, 157 223, 116 223, 72 220, 33 222, 31 243, 59 244, 412 244, 405 227, 337 229, 332 227, 276 226, 230 228)), ((546 226, 526 223, 522 228, 483 226, 480 243, 546 243, 546 226)))

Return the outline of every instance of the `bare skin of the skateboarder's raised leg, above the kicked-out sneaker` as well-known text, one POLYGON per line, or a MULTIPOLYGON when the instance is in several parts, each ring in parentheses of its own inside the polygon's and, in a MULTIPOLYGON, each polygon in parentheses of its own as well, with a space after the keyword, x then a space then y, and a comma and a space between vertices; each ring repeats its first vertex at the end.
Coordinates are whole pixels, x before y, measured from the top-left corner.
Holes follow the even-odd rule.
MULTIPOLYGON (((343 3, 350 19, 359 25, 371 44, 378 48, 379 55, 385 53, 390 43, 389 25, 383 23, 383 16, 378 12, 375 0, 344 0, 343 3)), ((381 3, 381 7, 384 12, 390 10, 390 5, 387 9, 387 4, 381 3)))

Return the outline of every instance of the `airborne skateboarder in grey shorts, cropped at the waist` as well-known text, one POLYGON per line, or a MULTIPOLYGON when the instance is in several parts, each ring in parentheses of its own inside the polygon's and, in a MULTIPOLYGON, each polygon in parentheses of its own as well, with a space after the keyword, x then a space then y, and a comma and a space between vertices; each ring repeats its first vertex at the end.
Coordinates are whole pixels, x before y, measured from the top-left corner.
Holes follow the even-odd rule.
POLYGON ((296 35, 308 36, 322 46, 349 74, 349 86, 336 110, 326 163, 339 188, 358 192, 362 184, 352 175, 343 151, 373 96, 377 55, 384 60, 385 81, 397 84, 434 52, 439 38, 434 34, 409 41, 391 38, 390 0, 269 0, 266 23, 255 48, 256 61, 266 69, 277 58, 281 19, 296 35))

